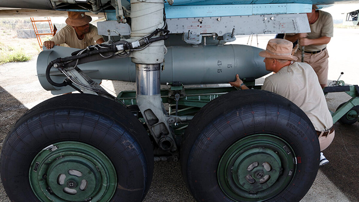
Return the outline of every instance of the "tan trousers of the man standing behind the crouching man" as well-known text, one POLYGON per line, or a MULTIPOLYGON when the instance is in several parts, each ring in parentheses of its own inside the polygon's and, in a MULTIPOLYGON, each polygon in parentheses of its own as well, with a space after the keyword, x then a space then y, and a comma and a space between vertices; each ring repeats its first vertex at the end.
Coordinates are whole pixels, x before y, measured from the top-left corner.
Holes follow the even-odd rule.
MULTIPOLYGON (((297 56, 298 62, 302 61, 302 51, 298 49, 294 55, 297 56)), ((328 58, 327 49, 317 54, 304 53, 304 62, 312 66, 318 76, 319 84, 327 84, 328 82, 328 58)))

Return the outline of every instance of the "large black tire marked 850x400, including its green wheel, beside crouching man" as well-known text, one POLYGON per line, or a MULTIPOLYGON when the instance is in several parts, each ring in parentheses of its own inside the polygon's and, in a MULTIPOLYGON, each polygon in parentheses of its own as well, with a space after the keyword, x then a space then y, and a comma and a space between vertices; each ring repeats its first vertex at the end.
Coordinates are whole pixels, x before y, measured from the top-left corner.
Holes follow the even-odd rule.
MULTIPOLYGON (((294 202, 304 197, 316 178, 319 156, 316 131, 298 106, 271 92, 244 90, 216 98, 195 115, 182 141, 181 167, 187 188, 197 201, 294 202), (279 146, 273 146, 271 139, 278 141, 279 146), (285 150, 280 148, 283 145, 285 150), (263 157, 253 151, 262 149, 267 153, 277 153, 282 162, 278 168, 283 169, 269 169, 276 173, 277 178, 271 175, 276 181, 265 182, 273 184, 264 190, 265 183, 261 188, 254 187, 260 175, 256 174, 258 179, 254 179, 253 186, 243 180, 246 175, 232 175, 237 168, 237 173, 244 166, 247 171, 250 169, 244 160, 239 160, 240 157, 259 162, 257 159, 263 157), (292 153, 287 155, 288 151, 292 153), (246 152, 253 153, 246 156, 246 152), (244 183, 233 186, 235 178, 244 183), (250 188, 243 188, 245 186, 250 188)), ((255 169, 263 168, 265 162, 262 167, 258 162, 255 169)))

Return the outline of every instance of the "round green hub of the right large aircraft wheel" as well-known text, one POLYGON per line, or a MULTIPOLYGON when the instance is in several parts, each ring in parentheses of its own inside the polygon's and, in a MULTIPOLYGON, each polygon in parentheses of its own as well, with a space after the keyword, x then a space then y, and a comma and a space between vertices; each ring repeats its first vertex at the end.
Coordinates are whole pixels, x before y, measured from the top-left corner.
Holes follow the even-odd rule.
POLYGON ((234 201, 264 201, 282 192, 295 174, 295 153, 286 141, 255 134, 230 146, 219 161, 217 179, 234 201))

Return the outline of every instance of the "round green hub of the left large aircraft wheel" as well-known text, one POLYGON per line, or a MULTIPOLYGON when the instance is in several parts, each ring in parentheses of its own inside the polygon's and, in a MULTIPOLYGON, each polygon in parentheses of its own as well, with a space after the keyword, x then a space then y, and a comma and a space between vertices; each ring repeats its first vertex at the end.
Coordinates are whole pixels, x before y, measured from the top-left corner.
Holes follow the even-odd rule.
POLYGON ((29 170, 30 185, 41 201, 109 201, 117 175, 99 149, 81 142, 59 142, 41 150, 29 170))

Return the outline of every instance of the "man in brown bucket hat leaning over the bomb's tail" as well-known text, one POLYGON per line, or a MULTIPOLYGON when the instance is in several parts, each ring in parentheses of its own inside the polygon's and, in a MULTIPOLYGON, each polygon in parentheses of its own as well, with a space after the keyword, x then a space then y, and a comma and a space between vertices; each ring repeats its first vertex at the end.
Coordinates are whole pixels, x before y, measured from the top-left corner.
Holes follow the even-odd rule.
POLYGON ((51 49, 55 44, 66 43, 71 48, 84 49, 87 46, 103 43, 102 36, 98 35, 97 27, 89 24, 92 18, 84 12, 67 12, 66 26, 43 45, 51 49))

